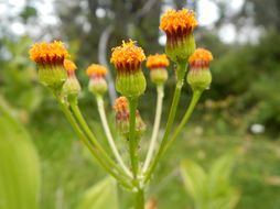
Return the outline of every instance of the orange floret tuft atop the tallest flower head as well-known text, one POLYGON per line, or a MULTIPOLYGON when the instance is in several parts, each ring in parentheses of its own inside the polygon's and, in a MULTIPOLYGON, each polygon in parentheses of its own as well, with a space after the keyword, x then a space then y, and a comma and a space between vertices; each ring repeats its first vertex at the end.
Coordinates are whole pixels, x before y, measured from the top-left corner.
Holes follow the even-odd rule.
POLYGON ((192 10, 168 10, 161 16, 160 29, 166 34, 192 32, 197 25, 192 10))

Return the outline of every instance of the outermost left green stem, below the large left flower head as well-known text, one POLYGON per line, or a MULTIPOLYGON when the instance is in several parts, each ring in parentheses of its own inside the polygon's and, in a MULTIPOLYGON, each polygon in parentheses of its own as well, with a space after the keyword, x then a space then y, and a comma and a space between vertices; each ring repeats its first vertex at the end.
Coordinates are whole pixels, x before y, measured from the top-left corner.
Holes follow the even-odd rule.
POLYGON ((111 176, 114 176, 123 187, 128 189, 132 189, 132 186, 122 177, 120 177, 118 174, 116 174, 110 165, 108 165, 106 162, 103 161, 103 157, 99 155, 98 151, 95 148, 95 145, 91 144, 91 142, 87 139, 87 136, 84 134, 84 132, 78 127, 75 118, 73 117, 72 112, 68 110, 68 107, 61 101, 58 97, 55 97, 63 113, 65 114, 67 121, 71 123, 73 130, 78 135, 79 140, 87 146, 87 148, 90 151, 90 153, 96 157, 98 163, 104 167, 105 170, 107 170, 111 176))

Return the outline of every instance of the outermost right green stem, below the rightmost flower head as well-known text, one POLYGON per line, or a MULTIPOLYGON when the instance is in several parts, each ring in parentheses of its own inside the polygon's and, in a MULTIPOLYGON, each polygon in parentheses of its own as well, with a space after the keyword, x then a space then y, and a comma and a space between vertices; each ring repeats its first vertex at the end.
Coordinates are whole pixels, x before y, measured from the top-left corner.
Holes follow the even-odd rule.
POLYGON ((194 111, 194 108, 197 103, 197 101, 200 100, 201 98, 201 95, 202 95, 202 91, 201 90, 195 90, 193 92, 193 97, 192 97, 192 100, 191 100, 191 103, 182 119, 182 121, 180 122, 179 127, 175 129, 174 131, 174 134, 172 135, 171 140, 168 142, 164 151, 166 151, 171 144, 175 141, 175 139, 177 138, 179 133, 182 131, 183 127, 185 125, 185 123, 189 121, 190 117, 192 116, 193 111, 194 111))

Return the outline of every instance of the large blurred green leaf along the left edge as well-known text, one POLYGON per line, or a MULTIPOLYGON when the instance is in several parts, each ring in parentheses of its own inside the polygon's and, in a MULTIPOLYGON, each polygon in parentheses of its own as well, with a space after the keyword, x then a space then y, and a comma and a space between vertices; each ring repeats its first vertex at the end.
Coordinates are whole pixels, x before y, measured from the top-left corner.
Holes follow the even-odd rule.
POLYGON ((24 127, 0 97, 0 209, 39 208, 39 156, 24 127))

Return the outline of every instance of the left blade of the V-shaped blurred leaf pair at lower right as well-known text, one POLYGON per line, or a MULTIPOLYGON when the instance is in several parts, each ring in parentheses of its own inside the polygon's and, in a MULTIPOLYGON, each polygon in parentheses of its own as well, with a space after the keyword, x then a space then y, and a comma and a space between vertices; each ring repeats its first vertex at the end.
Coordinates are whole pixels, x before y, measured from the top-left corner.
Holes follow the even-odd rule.
POLYGON ((181 175, 187 193, 196 201, 204 199, 206 174, 203 168, 191 160, 184 160, 181 164, 181 175))

